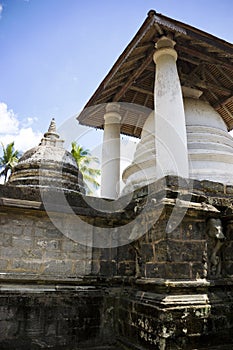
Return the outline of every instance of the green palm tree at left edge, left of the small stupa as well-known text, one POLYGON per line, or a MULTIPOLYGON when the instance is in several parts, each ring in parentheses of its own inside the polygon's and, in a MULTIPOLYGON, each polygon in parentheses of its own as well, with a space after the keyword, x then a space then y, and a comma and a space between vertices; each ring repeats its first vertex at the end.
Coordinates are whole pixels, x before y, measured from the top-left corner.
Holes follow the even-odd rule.
POLYGON ((2 143, 2 151, 3 156, 0 157, 0 168, 3 168, 3 170, 0 172, 0 176, 4 176, 4 183, 6 183, 8 172, 11 172, 18 163, 20 153, 14 150, 14 141, 6 145, 6 147, 2 143))

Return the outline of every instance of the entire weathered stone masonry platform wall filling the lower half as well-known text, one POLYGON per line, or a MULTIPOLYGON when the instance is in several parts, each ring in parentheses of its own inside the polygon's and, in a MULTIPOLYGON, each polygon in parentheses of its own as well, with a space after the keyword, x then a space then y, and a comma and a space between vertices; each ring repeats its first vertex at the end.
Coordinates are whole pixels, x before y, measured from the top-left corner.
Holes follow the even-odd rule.
POLYGON ((165 180, 114 214, 92 209, 98 198, 87 204, 67 194, 93 241, 101 227, 117 232, 142 213, 137 230, 147 225, 146 233, 111 249, 75 241, 79 227, 55 200, 59 191, 44 190, 67 236, 48 218, 39 190, 1 186, 1 349, 232 348, 232 187, 194 181, 190 190, 186 181, 165 180), (175 205, 187 212, 168 233, 175 205), (215 260, 212 219, 226 237, 215 260))

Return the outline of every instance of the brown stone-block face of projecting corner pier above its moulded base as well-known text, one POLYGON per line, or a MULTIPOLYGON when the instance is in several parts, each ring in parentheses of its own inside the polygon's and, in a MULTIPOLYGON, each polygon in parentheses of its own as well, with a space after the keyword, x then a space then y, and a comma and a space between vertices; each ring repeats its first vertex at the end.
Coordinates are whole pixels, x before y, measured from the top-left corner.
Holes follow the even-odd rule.
POLYGON ((196 280, 205 269, 205 220, 187 215, 166 233, 167 220, 159 220, 141 239, 141 277, 196 280))

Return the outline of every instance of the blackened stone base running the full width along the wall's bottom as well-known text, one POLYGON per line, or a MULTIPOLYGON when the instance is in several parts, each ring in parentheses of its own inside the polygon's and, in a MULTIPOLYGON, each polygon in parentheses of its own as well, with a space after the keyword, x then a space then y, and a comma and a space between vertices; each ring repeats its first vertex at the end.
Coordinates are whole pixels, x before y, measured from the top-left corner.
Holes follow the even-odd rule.
POLYGON ((95 284, 2 287, 0 349, 233 348, 230 279, 95 284))

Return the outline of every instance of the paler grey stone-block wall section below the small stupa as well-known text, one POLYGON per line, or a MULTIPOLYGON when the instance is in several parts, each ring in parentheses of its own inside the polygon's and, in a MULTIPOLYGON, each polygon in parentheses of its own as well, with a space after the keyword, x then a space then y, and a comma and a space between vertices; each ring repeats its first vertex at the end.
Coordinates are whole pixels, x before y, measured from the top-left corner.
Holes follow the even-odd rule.
MULTIPOLYGON (((67 215, 59 220, 69 222, 67 215)), ((72 223, 68 225, 72 230, 72 223)), ((1 211, 0 235, 4 278, 66 281, 91 273, 91 247, 64 236, 44 212, 1 211)))

